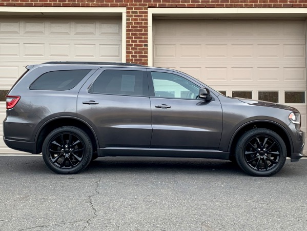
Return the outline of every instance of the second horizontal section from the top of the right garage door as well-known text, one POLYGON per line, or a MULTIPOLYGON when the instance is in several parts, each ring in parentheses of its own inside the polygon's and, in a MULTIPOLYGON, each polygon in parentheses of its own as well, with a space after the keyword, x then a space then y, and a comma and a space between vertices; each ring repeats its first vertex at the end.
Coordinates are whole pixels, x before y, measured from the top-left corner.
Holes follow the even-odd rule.
MULTIPOLYGON (((304 63, 305 43, 303 40, 250 40, 250 41, 184 41, 177 39, 174 41, 155 41, 154 59, 166 58, 168 60, 181 59, 182 61, 198 59, 203 62, 216 59, 223 59, 222 62, 258 62, 258 63, 304 63), (251 60, 251 61, 249 61, 251 60)), ((162 61, 162 60, 161 60, 162 61)))

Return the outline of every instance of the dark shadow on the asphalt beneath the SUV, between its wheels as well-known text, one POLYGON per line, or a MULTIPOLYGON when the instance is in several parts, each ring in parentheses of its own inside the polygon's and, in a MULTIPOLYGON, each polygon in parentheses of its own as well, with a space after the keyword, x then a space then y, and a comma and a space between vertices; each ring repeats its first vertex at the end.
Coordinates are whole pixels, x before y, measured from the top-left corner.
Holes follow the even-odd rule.
POLYGON ((224 173, 244 175, 237 164, 230 161, 191 159, 191 158, 159 158, 159 157, 105 157, 92 161, 86 172, 136 172, 153 174, 156 172, 185 172, 185 174, 224 173))

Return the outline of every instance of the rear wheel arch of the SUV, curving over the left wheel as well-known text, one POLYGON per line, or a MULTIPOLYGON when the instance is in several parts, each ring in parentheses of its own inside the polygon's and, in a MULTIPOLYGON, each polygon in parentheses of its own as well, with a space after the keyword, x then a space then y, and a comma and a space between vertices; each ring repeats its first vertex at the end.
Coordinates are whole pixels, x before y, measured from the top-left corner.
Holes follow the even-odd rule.
POLYGON ((36 153, 42 152, 42 146, 47 135, 55 128, 62 126, 74 126, 84 130, 92 140, 93 150, 99 148, 98 139, 94 129, 84 120, 76 117, 55 117, 45 122, 37 131, 35 136, 36 153))

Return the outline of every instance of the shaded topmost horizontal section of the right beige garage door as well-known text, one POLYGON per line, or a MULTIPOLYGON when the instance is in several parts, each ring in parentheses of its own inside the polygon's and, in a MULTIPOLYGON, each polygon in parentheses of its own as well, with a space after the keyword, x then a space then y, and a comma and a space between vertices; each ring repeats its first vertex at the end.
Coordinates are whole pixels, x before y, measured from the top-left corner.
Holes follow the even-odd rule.
MULTIPOLYGON (((276 37, 283 39, 300 39, 304 36, 304 21, 289 20, 169 20, 167 25, 163 20, 156 20, 154 25, 155 40, 177 36, 183 39, 216 40, 225 36, 229 40, 272 40, 276 37), (185 28, 182 30, 182 28, 185 28)), ((193 41, 191 40, 191 41, 193 41)))

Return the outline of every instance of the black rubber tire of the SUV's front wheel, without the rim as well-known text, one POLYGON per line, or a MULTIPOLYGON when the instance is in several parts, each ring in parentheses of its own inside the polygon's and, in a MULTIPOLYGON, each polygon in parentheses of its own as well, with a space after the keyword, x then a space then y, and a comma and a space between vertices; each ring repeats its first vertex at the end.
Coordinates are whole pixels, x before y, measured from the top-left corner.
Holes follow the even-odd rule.
POLYGON ((236 146, 236 160, 239 166, 247 172, 247 174, 252 176, 259 176, 259 177, 267 177, 276 174, 284 165, 286 160, 286 147, 281 139, 281 137, 274 131, 265 129, 265 128, 255 128, 248 132, 245 132, 242 137, 239 139, 237 146, 236 146), (251 139, 258 137, 258 136, 267 136, 270 139, 273 139, 280 149, 279 160, 277 164, 270 170, 265 171, 258 171, 252 168, 247 161, 245 160, 245 147, 250 142, 251 139))

